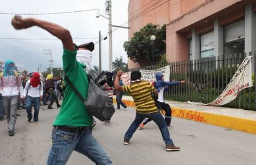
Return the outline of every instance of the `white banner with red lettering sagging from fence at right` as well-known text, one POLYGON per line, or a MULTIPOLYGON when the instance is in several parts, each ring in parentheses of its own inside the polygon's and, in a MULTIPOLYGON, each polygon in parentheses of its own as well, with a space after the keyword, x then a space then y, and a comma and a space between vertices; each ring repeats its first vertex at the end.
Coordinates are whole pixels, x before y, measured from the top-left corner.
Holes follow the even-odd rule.
POLYGON ((244 59, 222 94, 213 100, 213 102, 210 102, 209 104, 203 104, 201 102, 188 101, 188 103, 198 105, 225 105, 234 100, 240 91, 247 87, 253 86, 251 58, 252 56, 248 56, 244 59))

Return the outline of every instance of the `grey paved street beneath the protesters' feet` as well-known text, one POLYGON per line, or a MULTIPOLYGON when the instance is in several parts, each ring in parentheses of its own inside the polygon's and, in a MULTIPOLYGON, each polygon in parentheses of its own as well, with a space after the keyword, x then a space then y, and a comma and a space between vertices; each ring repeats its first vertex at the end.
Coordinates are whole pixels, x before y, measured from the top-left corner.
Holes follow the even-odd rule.
MULTIPOLYGON (((24 109, 17 118, 16 132, 9 136, 6 119, 0 121, 0 164, 46 164, 50 149, 51 128, 58 114, 41 106, 39 123, 27 123, 24 109)), ((116 106, 116 105, 115 105, 116 106)), ((134 119, 135 109, 116 110, 112 125, 97 120, 93 135, 111 156, 113 164, 255 164, 256 135, 216 127, 205 123, 173 118, 171 138, 181 151, 167 152, 155 123, 137 130, 129 145, 122 140, 134 119)), ((94 164, 73 152, 68 164, 94 164)))

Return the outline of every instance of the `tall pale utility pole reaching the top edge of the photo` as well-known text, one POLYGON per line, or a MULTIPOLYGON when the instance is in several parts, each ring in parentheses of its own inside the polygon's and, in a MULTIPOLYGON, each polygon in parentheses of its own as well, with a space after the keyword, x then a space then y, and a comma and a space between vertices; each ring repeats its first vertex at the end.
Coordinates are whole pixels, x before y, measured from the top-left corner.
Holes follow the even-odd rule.
POLYGON ((105 2, 109 14, 109 71, 112 72, 112 4, 111 0, 105 2))

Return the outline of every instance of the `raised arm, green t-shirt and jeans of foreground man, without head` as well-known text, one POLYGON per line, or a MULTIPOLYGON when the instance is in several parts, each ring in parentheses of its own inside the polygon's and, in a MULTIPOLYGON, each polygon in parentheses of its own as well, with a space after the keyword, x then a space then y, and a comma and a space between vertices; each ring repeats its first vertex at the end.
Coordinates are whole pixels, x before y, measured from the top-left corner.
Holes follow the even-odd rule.
MULTIPOLYGON (((88 77, 83 67, 76 61, 76 50, 70 32, 60 25, 38 19, 22 19, 14 16, 14 29, 27 29, 37 26, 52 33, 63 44, 63 71, 71 83, 84 94, 88 92, 88 77)), ((68 83, 65 83, 65 93, 62 108, 53 123, 52 148, 48 155, 47 164, 66 164, 73 150, 84 154, 96 164, 112 164, 109 155, 91 135, 91 114, 75 94, 68 83)))

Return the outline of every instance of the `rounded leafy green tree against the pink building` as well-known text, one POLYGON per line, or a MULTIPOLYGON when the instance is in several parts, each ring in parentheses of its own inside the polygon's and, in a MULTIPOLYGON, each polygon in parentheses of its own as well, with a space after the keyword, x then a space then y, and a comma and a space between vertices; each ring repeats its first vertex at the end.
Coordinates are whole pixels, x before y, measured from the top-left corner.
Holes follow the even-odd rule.
POLYGON ((140 66, 153 65, 161 60, 165 53, 166 25, 158 28, 159 25, 149 23, 139 32, 135 32, 128 42, 124 42, 124 50, 130 60, 137 62, 140 66), (152 45, 150 36, 155 35, 156 39, 152 45), (153 51, 153 52, 152 52, 153 51), (153 55, 153 58, 152 58, 153 55))

